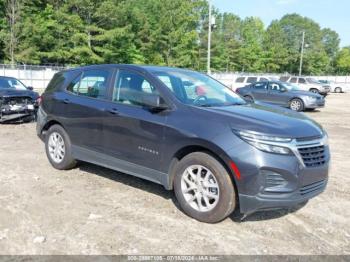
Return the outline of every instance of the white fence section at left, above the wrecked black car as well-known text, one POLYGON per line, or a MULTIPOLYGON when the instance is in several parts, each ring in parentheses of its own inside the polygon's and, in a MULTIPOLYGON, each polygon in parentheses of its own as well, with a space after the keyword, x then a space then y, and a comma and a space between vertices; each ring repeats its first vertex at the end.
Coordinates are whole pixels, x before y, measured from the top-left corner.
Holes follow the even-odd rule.
POLYGON ((26 86, 32 86, 42 92, 55 73, 65 69, 57 66, 1 65, 0 76, 10 76, 21 80, 26 86))

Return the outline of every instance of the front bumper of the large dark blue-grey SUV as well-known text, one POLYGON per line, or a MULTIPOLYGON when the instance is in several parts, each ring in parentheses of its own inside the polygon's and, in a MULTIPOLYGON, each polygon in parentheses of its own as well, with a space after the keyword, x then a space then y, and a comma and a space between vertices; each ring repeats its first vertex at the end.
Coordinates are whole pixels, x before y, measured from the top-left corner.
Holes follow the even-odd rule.
POLYGON ((324 146, 324 163, 306 166, 296 155, 260 151, 245 142, 230 152, 241 172, 236 179, 240 212, 294 207, 322 193, 327 185, 329 147, 324 146), (240 152, 240 157, 235 158, 240 152))

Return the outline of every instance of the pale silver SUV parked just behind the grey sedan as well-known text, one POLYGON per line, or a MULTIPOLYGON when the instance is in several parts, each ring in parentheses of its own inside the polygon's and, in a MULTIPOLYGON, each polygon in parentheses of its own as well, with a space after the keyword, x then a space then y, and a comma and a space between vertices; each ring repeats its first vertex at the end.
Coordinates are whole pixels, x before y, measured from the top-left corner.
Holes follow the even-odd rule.
POLYGON ((282 76, 280 81, 297 85, 301 90, 310 91, 323 96, 327 96, 330 92, 329 85, 321 84, 311 77, 282 76))

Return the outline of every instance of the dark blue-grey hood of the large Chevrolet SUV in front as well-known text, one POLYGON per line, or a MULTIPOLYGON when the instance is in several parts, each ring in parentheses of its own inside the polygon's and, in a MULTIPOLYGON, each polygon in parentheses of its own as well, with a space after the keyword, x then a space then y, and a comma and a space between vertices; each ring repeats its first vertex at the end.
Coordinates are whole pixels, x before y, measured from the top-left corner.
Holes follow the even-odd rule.
POLYGON ((224 117, 235 130, 246 130, 290 138, 319 136, 322 127, 306 115, 262 103, 206 108, 224 117))

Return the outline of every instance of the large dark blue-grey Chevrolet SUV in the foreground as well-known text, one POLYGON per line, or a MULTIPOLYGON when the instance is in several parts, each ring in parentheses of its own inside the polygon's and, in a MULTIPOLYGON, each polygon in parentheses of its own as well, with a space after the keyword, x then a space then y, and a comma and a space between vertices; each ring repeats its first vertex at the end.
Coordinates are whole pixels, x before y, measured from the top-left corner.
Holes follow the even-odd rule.
POLYGON ((54 168, 85 161, 159 183, 175 191, 186 214, 209 223, 238 207, 247 215, 295 206, 327 184, 330 152, 319 124, 246 103, 185 69, 57 73, 42 95, 37 134, 54 168))

